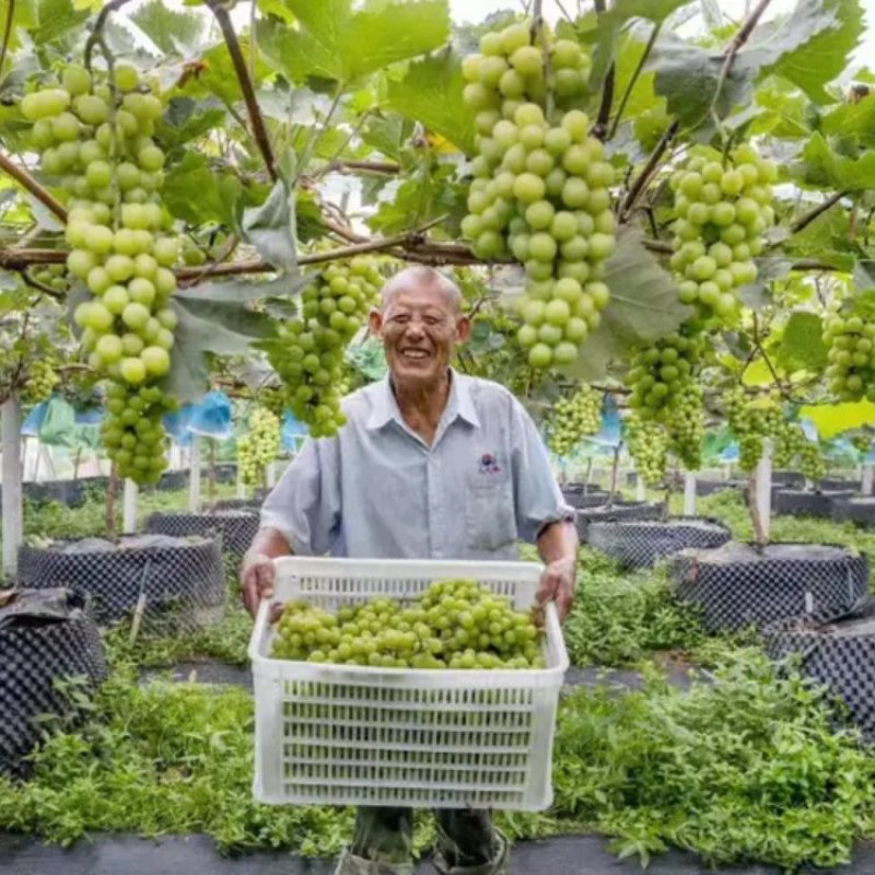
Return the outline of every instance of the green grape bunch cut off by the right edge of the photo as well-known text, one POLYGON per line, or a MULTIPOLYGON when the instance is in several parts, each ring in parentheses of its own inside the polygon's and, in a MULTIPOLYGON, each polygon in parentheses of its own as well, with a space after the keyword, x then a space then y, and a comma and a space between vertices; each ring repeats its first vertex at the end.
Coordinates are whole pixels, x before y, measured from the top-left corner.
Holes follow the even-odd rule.
POLYGON ((826 322, 829 390, 842 401, 875 401, 875 322, 836 313, 826 322))

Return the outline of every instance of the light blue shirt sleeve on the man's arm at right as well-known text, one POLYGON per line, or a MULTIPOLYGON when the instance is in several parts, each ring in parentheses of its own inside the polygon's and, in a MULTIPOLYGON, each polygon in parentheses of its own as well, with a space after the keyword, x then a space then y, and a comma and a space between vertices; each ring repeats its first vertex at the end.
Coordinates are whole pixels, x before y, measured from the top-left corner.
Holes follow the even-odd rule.
POLYGON ((514 398, 511 410, 511 468, 513 471, 516 530, 534 544, 541 529, 560 520, 573 521, 550 467, 547 447, 532 417, 514 398))

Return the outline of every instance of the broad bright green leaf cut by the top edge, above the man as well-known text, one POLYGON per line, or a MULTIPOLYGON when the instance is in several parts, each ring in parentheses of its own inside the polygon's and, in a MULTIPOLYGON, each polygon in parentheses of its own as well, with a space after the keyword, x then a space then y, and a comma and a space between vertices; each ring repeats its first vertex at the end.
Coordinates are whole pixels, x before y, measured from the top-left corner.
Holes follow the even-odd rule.
POLYGON ((353 12, 350 0, 284 0, 299 30, 277 19, 258 24, 265 55, 293 81, 350 82, 440 48, 450 36, 445 0, 377 2, 353 12))

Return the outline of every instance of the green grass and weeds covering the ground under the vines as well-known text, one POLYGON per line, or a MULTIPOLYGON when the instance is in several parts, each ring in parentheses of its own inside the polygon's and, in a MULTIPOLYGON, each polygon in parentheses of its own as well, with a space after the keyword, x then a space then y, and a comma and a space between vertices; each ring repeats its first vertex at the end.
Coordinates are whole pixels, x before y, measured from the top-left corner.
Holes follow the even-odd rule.
MULTIPOLYGON (((143 497, 142 517, 186 506, 185 492, 154 494, 154 504, 143 497)), ((702 498, 698 509, 736 538, 750 537, 740 495, 702 498)), ((69 535, 70 524, 78 535, 100 534, 102 505, 70 515, 33 511, 27 530, 57 537, 69 535)), ((778 517, 772 535, 875 553, 875 533, 828 521, 778 517)), ((83 726, 56 722, 35 755, 33 780, 0 781, 0 822, 65 843, 107 830, 205 832, 223 852, 283 848, 330 856, 343 847, 347 809, 253 802, 248 692, 138 682, 142 666, 245 662, 250 619, 233 563, 226 571, 221 625, 177 638, 141 635, 133 645, 128 625, 106 632, 110 680, 93 700, 79 696, 83 726)), ((565 625, 573 663, 637 666, 646 682, 637 691, 581 688, 564 698, 556 803, 541 814, 500 815, 502 829, 514 839, 597 830, 642 863, 672 845, 714 864, 794 871, 847 862, 854 840, 875 832, 875 758, 841 728, 822 692, 792 666, 777 670, 756 635, 705 634, 695 610, 674 600, 662 569, 627 573, 582 550, 579 572, 565 625), (687 691, 669 686, 657 667, 666 653, 709 666, 708 676, 693 674, 687 691)), ((419 816, 416 847, 432 837, 430 819, 419 816)))

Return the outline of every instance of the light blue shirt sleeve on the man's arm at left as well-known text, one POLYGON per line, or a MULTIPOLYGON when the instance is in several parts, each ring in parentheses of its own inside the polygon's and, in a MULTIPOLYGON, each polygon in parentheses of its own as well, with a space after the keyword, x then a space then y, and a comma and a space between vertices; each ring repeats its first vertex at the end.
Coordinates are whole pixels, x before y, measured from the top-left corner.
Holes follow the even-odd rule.
POLYGON ((327 553, 339 537, 339 460, 336 438, 307 440, 261 508, 261 526, 300 556, 327 553))

